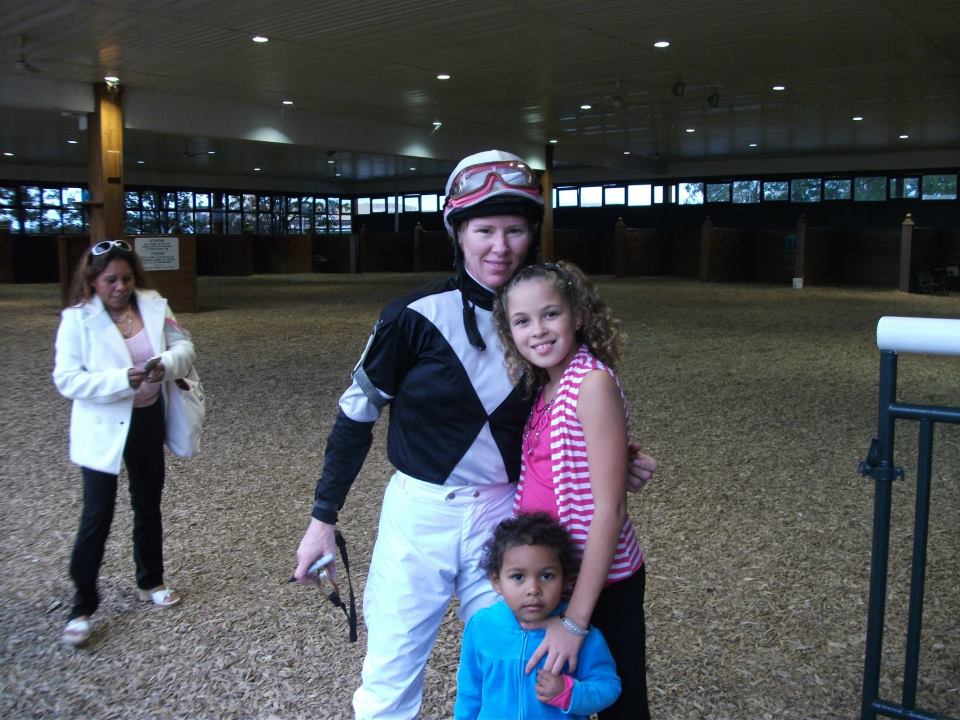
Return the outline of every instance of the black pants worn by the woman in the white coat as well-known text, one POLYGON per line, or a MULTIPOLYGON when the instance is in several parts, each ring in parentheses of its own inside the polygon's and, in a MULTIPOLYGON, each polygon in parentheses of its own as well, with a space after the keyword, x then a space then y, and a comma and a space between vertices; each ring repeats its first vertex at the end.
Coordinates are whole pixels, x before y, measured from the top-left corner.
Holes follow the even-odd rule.
MULTIPOLYGON (((163 403, 134 408, 130 432, 123 448, 133 507, 133 559, 137 587, 149 590, 163 584, 163 403)), ((117 476, 81 468, 83 514, 70 557, 70 577, 76 585, 70 619, 93 615, 100 605, 97 576, 110 535, 117 500, 117 476)))

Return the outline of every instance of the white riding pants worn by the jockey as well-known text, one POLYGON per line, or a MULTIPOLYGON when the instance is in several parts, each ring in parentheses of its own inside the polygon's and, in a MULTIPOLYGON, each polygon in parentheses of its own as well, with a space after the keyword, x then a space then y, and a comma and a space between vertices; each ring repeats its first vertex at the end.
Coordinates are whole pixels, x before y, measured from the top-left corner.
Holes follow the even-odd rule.
POLYGON ((363 594, 367 655, 353 696, 357 720, 413 720, 450 598, 466 622, 497 595, 480 569, 483 544, 513 510, 516 486, 452 488, 394 473, 363 594))

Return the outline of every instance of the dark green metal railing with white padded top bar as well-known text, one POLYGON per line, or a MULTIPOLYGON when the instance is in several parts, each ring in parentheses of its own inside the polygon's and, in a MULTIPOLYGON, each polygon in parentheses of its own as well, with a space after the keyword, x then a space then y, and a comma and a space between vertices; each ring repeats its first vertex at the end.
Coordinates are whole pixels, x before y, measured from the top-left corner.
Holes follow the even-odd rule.
POLYGON ((860 474, 869 475, 876 481, 870 598, 867 609, 867 639, 860 717, 861 720, 876 720, 878 715, 908 720, 950 720, 946 715, 917 708, 917 676, 920 667, 920 628, 923 622, 930 519, 933 426, 938 422, 960 424, 960 408, 898 403, 897 353, 960 355, 960 320, 884 317, 877 324, 877 347, 880 349, 877 437, 870 443, 866 460, 860 463, 860 474), (899 703, 880 697, 891 496, 894 480, 903 477, 903 470, 893 462, 897 420, 915 420, 919 423, 913 560, 910 573, 903 692, 899 703))

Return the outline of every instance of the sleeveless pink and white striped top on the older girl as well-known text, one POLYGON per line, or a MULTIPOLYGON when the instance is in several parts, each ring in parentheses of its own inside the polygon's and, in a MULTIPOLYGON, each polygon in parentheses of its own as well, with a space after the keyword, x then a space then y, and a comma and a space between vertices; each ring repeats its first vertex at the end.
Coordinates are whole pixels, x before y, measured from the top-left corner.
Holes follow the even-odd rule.
MULTIPOLYGON (((587 542, 587 531, 593 519, 594 503, 583 425, 577 418, 577 400, 580 397, 580 384, 587 374, 594 370, 609 373, 616 381, 617 387, 620 387, 620 382, 613 370, 591 355, 586 346, 581 346, 560 379, 557 393, 548 408, 549 432, 536 435, 532 432, 531 423, 535 421, 536 412, 531 413, 530 419, 527 420, 527 427, 524 430, 523 456, 520 462, 520 481, 517 483, 517 494, 513 501, 515 513, 546 510, 543 507, 542 495, 535 489, 537 480, 532 476, 542 474, 542 472, 538 473, 538 470, 547 469, 545 466, 549 453, 549 471, 553 476, 553 491, 556 498, 554 512, 551 514, 573 537, 581 557, 587 542), (529 468, 528 461, 531 465, 529 468), (524 486, 528 473, 531 475, 532 492, 525 493, 524 486)), ((623 397, 622 389, 620 395, 623 397)), ((626 399, 624 399, 624 412, 627 412, 626 399)), ((643 565, 643 550, 637 540, 633 522, 627 517, 620 530, 613 563, 607 574, 607 584, 630 577, 640 569, 641 565, 643 565)))

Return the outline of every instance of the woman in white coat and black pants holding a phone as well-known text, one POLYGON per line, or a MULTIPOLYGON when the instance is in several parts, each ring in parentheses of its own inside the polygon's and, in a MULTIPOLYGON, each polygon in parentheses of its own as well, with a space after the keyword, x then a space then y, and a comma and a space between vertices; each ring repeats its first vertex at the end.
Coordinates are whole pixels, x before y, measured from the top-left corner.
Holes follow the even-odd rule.
POLYGON ((70 559, 76 586, 63 641, 82 645, 100 602, 97 576, 113 521, 123 462, 133 506, 138 596, 161 607, 180 602, 163 581, 163 381, 184 377, 194 349, 167 301, 145 290, 125 240, 83 255, 57 331, 53 381, 73 400, 70 459, 83 475, 83 514, 70 559))

